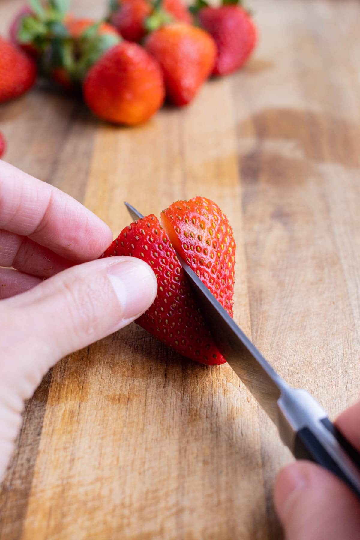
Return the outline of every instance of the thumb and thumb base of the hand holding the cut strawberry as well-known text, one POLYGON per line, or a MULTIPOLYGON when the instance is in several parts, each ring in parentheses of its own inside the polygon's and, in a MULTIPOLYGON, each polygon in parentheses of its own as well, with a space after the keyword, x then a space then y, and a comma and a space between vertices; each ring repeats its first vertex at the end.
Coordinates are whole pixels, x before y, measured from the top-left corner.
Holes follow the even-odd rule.
POLYGON ((47 370, 137 319, 152 304, 157 280, 130 257, 104 258, 56 274, 0 303, 0 481, 21 425, 25 399, 47 370))

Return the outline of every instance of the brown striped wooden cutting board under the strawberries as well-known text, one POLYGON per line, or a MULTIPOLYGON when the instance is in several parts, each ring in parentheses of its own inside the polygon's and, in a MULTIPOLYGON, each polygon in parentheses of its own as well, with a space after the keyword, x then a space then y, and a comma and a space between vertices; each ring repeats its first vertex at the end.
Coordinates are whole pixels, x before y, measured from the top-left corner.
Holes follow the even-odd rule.
MULTIPOLYGON (((0 2, 3 29, 21 3, 0 2)), ((6 160, 114 234, 123 200, 159 215, 176 199, 214 199, 239 246, 236 320, 335 415, 359 398, 360 6, 252 5, 253 60, 191 106, 121 129, 39 85, 0 109, 6 160)), ((281 538, 271 491, 290 459, 232 370, 184 360, 132 325, 59 362, 27 404, 0 539, 281 538)))

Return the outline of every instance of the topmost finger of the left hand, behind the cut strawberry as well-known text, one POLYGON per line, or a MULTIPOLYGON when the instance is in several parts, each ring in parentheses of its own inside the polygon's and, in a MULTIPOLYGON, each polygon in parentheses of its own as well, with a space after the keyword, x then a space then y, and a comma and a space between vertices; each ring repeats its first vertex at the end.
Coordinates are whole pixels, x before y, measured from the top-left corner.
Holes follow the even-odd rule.
POLYGON ((72 261, 98 258, 110 228, 69 195, 0 161, 0 228, 72 261))

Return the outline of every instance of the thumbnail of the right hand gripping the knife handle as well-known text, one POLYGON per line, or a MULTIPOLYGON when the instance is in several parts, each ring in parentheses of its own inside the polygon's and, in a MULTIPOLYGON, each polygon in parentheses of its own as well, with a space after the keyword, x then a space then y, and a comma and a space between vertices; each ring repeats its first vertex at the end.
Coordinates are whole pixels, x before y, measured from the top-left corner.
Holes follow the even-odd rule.
POLYGON ((280 471, 275 485, 275 506, 281 521, 284 520, 294 498, 305 485, 306 478, 297 463, 280 471))

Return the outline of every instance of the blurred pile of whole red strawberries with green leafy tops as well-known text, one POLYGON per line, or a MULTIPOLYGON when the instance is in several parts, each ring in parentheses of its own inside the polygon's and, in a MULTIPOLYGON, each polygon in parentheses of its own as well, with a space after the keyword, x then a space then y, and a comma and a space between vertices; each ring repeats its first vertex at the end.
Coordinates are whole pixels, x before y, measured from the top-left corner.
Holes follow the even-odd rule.
POLYGON ((80 90, 90 109, 137 125, 165 98, 186 105, 211 76, 239 69, 257 32, 241 0, 209 7, 196 0, 111 0, 104 21, 77 19, 69 0, 28 0, 0 38, 0 103, 35 82, 36 73, 80 90))

